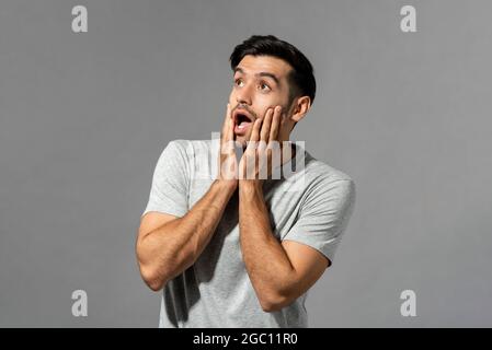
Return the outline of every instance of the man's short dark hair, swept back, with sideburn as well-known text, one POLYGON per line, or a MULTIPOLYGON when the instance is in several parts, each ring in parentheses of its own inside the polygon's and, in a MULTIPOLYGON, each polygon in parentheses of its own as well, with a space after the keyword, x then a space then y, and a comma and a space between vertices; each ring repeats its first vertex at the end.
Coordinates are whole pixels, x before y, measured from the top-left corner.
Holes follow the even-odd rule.
POLYGON ((229 60, 232 70, 244 56, 273 56, 288 62, 293 70, 288 75, 290 83, 289 103, 298 95, 308 95, 311 104, 316 95, 316 80, 311 62, 294 45, 273 35, 253 35, 234 47, 229 60))

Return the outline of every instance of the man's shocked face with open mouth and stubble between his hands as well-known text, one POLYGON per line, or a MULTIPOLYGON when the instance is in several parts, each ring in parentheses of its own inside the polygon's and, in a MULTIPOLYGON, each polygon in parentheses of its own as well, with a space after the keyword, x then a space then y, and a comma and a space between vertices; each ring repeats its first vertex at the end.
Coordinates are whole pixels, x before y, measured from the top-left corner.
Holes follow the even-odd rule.
POLYGON ((233 75, 233 86, 229 96, 234 120, 234 140, 243 148, 251 138, 252 125, 264 118, 266 109, 282 106, 284 124, 279 130, 279 141, 288 140, 295 120, 289 106, 288 74, 291 67, 286 61, 272 56, 247 55, 239 62, 233 75))

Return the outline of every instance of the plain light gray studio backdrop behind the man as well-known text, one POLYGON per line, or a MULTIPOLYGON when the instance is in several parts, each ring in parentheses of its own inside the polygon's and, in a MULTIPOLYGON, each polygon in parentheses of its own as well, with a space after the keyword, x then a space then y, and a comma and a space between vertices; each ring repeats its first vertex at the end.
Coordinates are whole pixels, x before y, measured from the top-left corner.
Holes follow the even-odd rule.
POLYGON ((156 162, 219 131, 252 34, 318 80, 293 135, 356 208, 311 327, 492 326, 492 2, 2 0, 0 326, 156 327, 134 244, 156 162), (71 9, 88 9, 88 33, 71 9), (416 33, 400 9, 416 8, 416 33), (72 291, 88 293, 73 317, 72 291), (416 294, 416 316, 400 293, 416 294))

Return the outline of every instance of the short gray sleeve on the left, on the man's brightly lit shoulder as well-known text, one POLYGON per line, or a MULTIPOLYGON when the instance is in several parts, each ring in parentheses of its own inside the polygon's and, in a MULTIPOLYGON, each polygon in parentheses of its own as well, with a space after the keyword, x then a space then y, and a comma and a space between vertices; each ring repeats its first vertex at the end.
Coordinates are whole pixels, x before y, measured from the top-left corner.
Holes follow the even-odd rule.
POLYGON ((157 162, 149 201, 141 215, 159 211, 181 218, 187 212, 187 194, 186 151, 178 140, 171 141, 157 162))

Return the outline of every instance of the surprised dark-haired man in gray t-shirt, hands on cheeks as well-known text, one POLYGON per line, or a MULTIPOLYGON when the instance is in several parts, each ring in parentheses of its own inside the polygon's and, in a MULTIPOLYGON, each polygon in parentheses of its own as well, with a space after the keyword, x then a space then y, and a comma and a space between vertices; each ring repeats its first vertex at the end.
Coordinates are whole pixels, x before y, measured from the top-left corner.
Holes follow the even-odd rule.
POLYGON ((307 327, 307 292, 333 262, 354 183, 288 143, 316 93, 297 48, 252 36, 230 62, 216 151, 213 141, 175 140, 157 163, 136 245, 140 272, 163 289, 160 327, 307 327), (233 143, 244 151, 239 160, 233 143), (291 176, 273 176, 298 159, 291 176), (198 176, 214 160, 217 176, 198 176))

